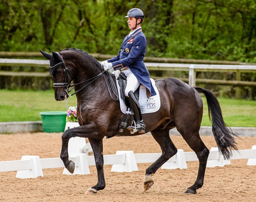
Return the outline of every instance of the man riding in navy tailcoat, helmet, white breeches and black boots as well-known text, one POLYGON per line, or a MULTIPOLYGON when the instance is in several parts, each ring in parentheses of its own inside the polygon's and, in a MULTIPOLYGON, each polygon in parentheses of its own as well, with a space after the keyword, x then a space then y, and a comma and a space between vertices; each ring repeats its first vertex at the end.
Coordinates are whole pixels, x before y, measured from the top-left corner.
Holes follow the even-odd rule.
MULTIPOLYGON (((121 70, 127 77, 125 95, 131 105, 136 119, 136 129, 139 133, 145 133, 145 124, 141 115, 139 101, 134 92, 140 84, 146 87, 147 97, 156 95, 149 78, 148 70, 143 62, 146 53, 147 40, 141 29, 141 23, 144 20, 144 14, 141 9, 133 8, 127 13, 128 27, 131 29, 121 45, 121 50, 116 57, 101 62, 104 70, 114 68, 121 70)), ((134 130, 134 126, 129 126, 128 130, 134 130)))

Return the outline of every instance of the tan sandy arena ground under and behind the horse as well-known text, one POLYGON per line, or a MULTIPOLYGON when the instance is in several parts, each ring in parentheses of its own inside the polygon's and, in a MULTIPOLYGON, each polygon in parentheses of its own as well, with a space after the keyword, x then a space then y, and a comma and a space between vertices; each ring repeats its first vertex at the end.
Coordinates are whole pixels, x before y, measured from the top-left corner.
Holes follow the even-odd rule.
MULTIPOLYGON (((171 136, 178 149, 191 151, 181 136, 171 136)), ((61 133, 0 134, 0 161, 20 160, 22 155, 38 155, 40 158, 56 158, 61 149, 61 133)), ((216 147, 212 136, 202 136, 210 149, 216 147)), ((237 140, 238 149, 251 149, 256 137, 237 140)), ((104 139, 104 154, 118 150, 134 153, 161 152, 151 135, 104 139)), ((63 175, 63 169, 43 169, 43 177, 33 179, 15 178, 16 172, 0 173, 0 201, 2 202, 255 202, 256 166, 247 166, 247 160, 232 160, 231 165, 207 168, 204 186, 197 195, 183 192, 192 185, 197 176, 198 162, 187 162, 188 169, 159 169, 153 176, 155 184, 143 189, 145 169, 149 164, 138 164, 139 171, 132 173, 111 172, 104 166, 106 188, 94 195, 84 195, 87 188, 96 184, 96 168, 90 166, 91 174, 63 175)))

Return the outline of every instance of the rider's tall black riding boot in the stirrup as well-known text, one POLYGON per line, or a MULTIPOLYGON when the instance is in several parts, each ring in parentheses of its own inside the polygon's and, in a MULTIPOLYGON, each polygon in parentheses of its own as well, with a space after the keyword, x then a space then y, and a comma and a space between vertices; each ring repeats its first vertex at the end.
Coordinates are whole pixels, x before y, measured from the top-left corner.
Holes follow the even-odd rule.
POLYGON ((136 123, 135 126, 129 126, 127 127, 128 130, 137 130, 139 133, 145 133, 145 124, 143 122, 143 118, 141 115, 141 107, 139 105, 139 101, 134 95, 134 92, 130 91, 128 93, 127 99, 130 103, 130 106, 134 112, 136 123))

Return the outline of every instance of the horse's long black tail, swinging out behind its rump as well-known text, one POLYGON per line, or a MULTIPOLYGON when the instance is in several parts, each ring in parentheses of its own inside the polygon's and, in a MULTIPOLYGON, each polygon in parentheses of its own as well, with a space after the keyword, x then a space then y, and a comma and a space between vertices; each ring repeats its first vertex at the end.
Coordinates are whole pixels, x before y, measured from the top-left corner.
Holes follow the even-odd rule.
POLYGON ((234 134, 230 127, 224 123, 221 107, 217 97, 210 90, 200 87, 194 88, 197 92, 205 95, 208 104, 209 119, 212 123, 213 136, 217 146, 219 147, 219 151, 221 151, 224 156, 224 159, 230 159, 230 156, 232 155, 230 150, 237 150, 237 143, 234 139, 237 135, 234 134))

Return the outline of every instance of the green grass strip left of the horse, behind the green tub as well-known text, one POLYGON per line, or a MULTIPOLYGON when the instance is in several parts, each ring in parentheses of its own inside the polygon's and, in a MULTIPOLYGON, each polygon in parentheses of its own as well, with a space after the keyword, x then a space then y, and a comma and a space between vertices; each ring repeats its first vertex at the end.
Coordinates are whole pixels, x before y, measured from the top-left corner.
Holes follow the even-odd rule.
POLYGON ((58 102, 53 90, 0 90, 0 95, 0 122, 41 121, 39 112, 67 111, 67 106, 76 106, 76 96, 58 102))

